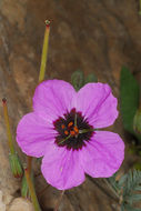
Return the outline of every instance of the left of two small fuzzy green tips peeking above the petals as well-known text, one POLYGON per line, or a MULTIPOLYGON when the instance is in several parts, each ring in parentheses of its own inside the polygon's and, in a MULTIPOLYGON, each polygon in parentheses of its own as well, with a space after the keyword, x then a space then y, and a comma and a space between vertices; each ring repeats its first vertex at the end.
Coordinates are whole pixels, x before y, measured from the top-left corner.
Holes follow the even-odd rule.
POLYGON ((71 76, 71 83, 77 91, 84 86, 84 76, 81 70, 77 70, 71 76))

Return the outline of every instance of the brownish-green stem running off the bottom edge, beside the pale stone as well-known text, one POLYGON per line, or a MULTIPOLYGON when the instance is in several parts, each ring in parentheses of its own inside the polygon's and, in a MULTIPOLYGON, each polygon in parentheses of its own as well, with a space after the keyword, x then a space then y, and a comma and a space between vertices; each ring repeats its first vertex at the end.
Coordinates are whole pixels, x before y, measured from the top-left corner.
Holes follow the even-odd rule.
POLYGON ((30 175, 30 173, 29 173, 29 171, 27 169, 24 170, 24 174, 26 174, 28 187, 29 187, 31 200, 32 200, 32 203, 33 203, 33 207, 34 207, 34 211, 41 211, 39 202, 38 202, 38 198, 37 198, 37 194, 36 194, 36 190, 34 190, 33 183, 31 181, 31 175, 30 175))

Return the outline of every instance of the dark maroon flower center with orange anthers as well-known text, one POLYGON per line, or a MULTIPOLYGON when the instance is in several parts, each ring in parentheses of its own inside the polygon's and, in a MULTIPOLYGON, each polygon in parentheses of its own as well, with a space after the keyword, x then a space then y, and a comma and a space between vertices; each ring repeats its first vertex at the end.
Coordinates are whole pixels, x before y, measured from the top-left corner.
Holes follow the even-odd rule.
POLYGON ((82 149, 93 134, 93 127, 75 109, 67 112, 64 118, 57 119, 53 125, 58 131, 56 143, 59 147, 67 147, 68 150, 82 149))

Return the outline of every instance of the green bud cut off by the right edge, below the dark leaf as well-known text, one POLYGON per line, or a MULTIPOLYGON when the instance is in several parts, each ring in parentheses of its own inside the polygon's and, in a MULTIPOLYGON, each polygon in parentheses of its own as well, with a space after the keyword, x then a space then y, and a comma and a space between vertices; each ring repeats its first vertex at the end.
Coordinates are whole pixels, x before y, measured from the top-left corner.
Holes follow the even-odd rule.
POLYGON ((141 133, 141 109, 137 110, 133 119, 133 130, 134 132, 141 133))

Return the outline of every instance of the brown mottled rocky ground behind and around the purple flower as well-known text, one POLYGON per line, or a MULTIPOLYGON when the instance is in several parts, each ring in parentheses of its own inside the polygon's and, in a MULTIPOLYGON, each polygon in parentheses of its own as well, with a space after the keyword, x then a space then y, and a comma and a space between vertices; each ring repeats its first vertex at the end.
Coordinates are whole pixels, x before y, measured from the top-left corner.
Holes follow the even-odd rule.
MULTIPOLYGON (((70 81, 78 69, 94 72, 119 98, 121 67, 141 69, 141 17, 137 0, 0 0, 0 96, 7 97, 13 138, 20 118, 31 111, 38 82, 44 20, 51 20, 46 78, 70 81)), ((0 112, 0 211, 32 211, 20 198, 8 160, 7 135, 0 112)), ((123 134, 121 118, 112 130, 123 134)), ((128 157, 127 157, 128 160, 128 157)), ((125 164, 124 164, 125 165, 125 164)), ((60 211, 112 211, 114 200, 98 183, 87 181, 66 192, 60 211)), ((41 175, 37 188, 42 211, 52 210, 60 192, 47 188, 41 175)))

